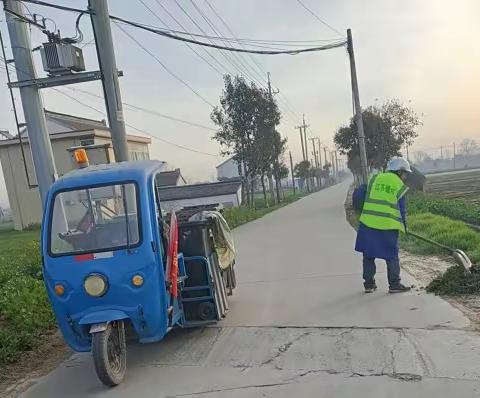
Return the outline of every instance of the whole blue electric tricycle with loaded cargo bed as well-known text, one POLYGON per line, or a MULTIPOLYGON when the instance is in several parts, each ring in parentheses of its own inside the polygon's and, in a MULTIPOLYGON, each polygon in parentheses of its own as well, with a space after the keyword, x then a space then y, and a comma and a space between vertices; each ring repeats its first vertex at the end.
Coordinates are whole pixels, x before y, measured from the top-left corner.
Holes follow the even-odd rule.
POLYGON ((218 237, 228 228, 218 213, 178 223, 178 271, 169 277, 173 238, 157 190, 161 167, 137 161, 74 170, 52 185, 46 202, 41 248, 49 299, 67 343, 92 351, 108 386, 124 378, 126 335, 151 343, 174 327, 215 323, 235 287, 233 257, 218 237))

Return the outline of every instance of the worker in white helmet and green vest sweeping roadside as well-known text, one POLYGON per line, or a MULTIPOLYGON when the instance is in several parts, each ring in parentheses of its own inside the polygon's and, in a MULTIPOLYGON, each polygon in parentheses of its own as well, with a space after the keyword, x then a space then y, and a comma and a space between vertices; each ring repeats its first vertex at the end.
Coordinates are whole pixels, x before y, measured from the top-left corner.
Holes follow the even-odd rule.
MULTIPOLYGON (((390 293, 408 292, 411 287, 400 283, 400 261, 398 257, 399 232, 406 231, 405 185, 410 164, 402 158, 394 158, 387 171, 370 178, 367 185, 354 193, 353 201, 363 201, 360 225, 355 250, 363 253, 363 279, 366 293, 377 289, 375 283, 375 259, 387 263, 390 293), (362 200, 363 199, 363 200, 362 200)), ((358 205, 357 205, 358 206, 358 205)), ((354 207, 357 207, 354 204, 354 207)))

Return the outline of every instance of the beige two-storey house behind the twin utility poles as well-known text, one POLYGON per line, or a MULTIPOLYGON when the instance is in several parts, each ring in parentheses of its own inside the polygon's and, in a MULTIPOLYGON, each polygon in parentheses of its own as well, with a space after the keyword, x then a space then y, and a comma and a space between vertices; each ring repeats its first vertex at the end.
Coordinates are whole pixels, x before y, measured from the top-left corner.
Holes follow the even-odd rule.
MULTIPOLYGON (((45 117, 57 173, 60 176, 75 168, 72 153, 78 147, 87 150, 91 164, 115 162, 110 130, 105 120, 92 120, 51 111, 45 111, 45 117)), ((17 230, 31 224, 39 224, 42 219, 28 131, 24 129, 20 134, 25 159, 18 136, 0 140, 0 162, 14 227, 17 230)), ((150 138, 127 135, 130 159, 148 159, 150 142, 150 138)))

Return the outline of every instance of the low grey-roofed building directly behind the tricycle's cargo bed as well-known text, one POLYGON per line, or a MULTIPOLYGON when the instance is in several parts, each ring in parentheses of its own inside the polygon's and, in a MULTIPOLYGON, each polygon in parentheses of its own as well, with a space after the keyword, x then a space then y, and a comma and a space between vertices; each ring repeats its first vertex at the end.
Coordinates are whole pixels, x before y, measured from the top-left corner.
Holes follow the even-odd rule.
POLYGON ((169 213, 184 207, 221 204, 225 207, 242 204, 242 181, 210 182, 158 188, 162 210, 169 213))

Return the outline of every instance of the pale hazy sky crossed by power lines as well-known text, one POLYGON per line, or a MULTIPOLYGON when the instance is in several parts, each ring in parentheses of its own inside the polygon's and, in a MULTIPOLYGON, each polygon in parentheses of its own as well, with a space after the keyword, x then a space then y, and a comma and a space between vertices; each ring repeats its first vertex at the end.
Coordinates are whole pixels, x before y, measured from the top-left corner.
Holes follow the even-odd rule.
MULTIPOLYGON (((52 0, 52 2, 54 2, 52 0)), ((237 38, 263 40, 327 40, 338 34, 309 14, 297 0, 209 0, 213 8, 237 38)), ((82 8, 86 0, 61 0, 57 4, 82 8)), ((399 98, 422 117, 423 126, 412 150, 433 151, 469 137, 480 139, 480 2, 478 0, 303 0, 323 21, 340 32, 351 28, 357 61, 362 107, 399 98)), ((213 14, 206 0, 110 0, 110 13, 141 23, 172 29, 179 28, 169 11, 189 32, 199 33, 199 25, 214 34, 195 6, 213 22, 222 36, 231 37, 213 14), (142 4, 142 2, 144 4, 142 4), (148 6, 151 11, 146 7, 148 6), (195 6, 194 6, 195 5, 195 6), (182 11, 186 11, 191 19, 182 11), (156 14, 156 15, 155 15, 156 14), (192 22, 195 21, 196 25, 192 22)), ((61 30, 63 36, 74 35, 76 14, 28 5, 32 13, 52 19, 48 26, 61 30)), ((98 68, 92 30, 88 17, 80 27, 84 33, 84 55, 88 70, 98 68), (89 44, 90 43, 90 44, 89 44)), ((7 53, 10 54, 5 18, 0 18, 7 53)), ((124 27, 148 51, 147 54, 116 25, 112 26, 117 67, 124 72, 120 78, 125 103, 148 108, 176 118, 214 128, 210 121, 211 105, 217 105, 223 87, 222 76, 200 59, 185 44, 124 27), (172 77, 163 63, 178 79, 172 77), (201 96, 201 98, 200 98, 201 96)), ((32 28, 32 44, 37 46, 45 36, 32 28)), ((234 72, 234 66, 217 50, 194 47, 204 58, 215 57, 221 72, 234 72), (223 67, 223 69, 222 69, 223 67)), ((43 76, 38 52, 35 53, 37 73, 43 76)), ((345 48, 316 53, 276 56, 235 56, 235 62, 249 64, 249 76, 256 80, 271 73, 272 84, 280 91, 276 96, 283 118, 279 131, 288 139, 289 150, 300 160, 301 145, 295 126, 305 114, 309 136, 320 137, 333 148, 333 135, 351 117, 351 93, 348 56, 345 48), (239 61, 241 58, 241 61, 239 61), (253 72, 255 70, 255 72, 253 72)), ((215 61, 213 61, 215 62, 215 61)), ((238 73, 238 72, 237 72, 238 73)), ((247 76, 247 79, 249 78, 247 76)), ((99 82, 72 86, 102 94, 99 82)), ((45 108, 73 115, 103 119, 102 99, 62 88, 86 106, 53 90, 43 90, 45 108)), ((18 92, 15 93, 21 109, 18 92)), ((15 131, 15 124, 6 77, 0 69, 0 128, 15 131)), ((208 129, 162 119, 130 107, 125 109, 126 122, 150 135, 197 151, 192 152, 154 139, 151 158, 180 167, 190 182, 215 179, 215 166, 222 161, 218 144, 208 129), (213 155, 213 156, 212 156, 213 155)), ((128 133, 140 134, 132 128, 128 133)), ((7 205, 3 175, 0 173, 0 205, 7 205)))

